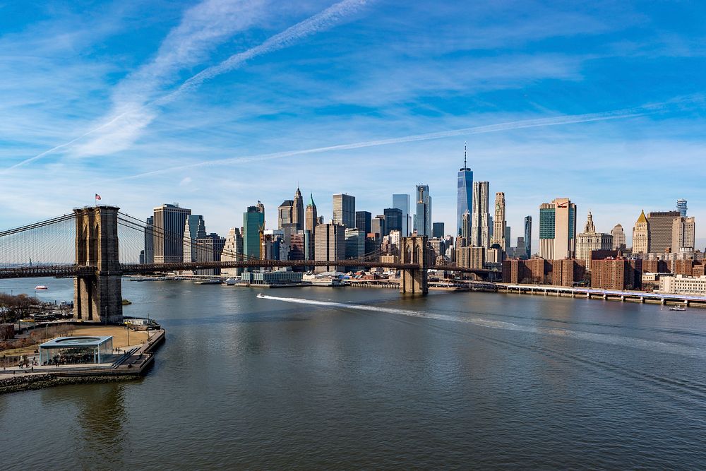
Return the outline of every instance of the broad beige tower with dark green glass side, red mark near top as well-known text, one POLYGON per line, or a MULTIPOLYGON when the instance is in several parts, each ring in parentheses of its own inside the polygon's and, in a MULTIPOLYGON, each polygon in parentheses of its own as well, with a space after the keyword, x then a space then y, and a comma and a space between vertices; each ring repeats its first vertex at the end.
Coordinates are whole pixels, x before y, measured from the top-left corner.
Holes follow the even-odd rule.
POLYGON ((572 258, 576 253, 576 205, 556 198, 539 206, 539 256, 546 260, 572 258))

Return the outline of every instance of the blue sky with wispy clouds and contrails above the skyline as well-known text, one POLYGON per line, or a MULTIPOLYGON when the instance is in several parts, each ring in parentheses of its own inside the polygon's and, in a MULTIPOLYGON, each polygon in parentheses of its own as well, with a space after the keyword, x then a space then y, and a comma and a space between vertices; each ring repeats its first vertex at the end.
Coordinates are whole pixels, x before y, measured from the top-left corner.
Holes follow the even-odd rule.
POLYGON ((425 183, 450 232, 468 141, 513 239, 525 215, 536 239, 556 197, 628 237, 642 208, 686 198, 703 249, 705 17, 700 2, 0 0, 0 226, 97 192, 138 217, 178 201, 225 234, 258 199, 276 225, 297 182, 325 217, 333 193, 378 214, 425 183))

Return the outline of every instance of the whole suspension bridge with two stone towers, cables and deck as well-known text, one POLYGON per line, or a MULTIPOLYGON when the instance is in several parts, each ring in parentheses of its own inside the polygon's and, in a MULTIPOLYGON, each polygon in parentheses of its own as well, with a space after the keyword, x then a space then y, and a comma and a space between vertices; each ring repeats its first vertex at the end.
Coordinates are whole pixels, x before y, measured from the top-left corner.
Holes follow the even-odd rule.
POLYGON ((263 260, 225 250, 221 261, 140 263, 145 233, 189 249, 183 235, 122 213, 108 205, 76 208, 72 213, 0 232, 0 278, 74 278, 74 318, 122 321, 121 280, 125 275, 172 273, 214 268, 360 267, 400 270, 400 292, 426 294, 429 270, 472 273, 489 279, 494 270, 430 263, 426 237, 402 237, 399 261, 380 261, 379 251, 340 260, 263 260))

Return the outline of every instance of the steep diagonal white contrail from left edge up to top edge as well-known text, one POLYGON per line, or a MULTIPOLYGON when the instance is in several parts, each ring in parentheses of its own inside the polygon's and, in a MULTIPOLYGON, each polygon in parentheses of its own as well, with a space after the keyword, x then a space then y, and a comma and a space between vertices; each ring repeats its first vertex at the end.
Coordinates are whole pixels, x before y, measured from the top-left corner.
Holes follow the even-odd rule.
POLYGON ((249 59, 253 59, 257 56, 262 56, 263 54, 268 54, 270 52, 275 52, 279 49, 284 49, 285 47, 289 47, 290 45, 294 44, 298 40, 304 39, 307 36, 316 34, 316 32, 332 27, 346 16, 351 15, 356 11, 359 11, 359 9, 365 4, 369 3, 369 1, 371 0, 340 1, 337 4, 326 8, 324 11, 316 13, 316 15, 311 16, 310 18, 307 18, 306 20, 303 20, 294 26, 287 28, 287 30, 268 38, 268 40, 265 40, 265 42, 259 44, 256 47, 248 49, 244 52, 239 52, 238 54, 233 54, 228 59, 225 59, 225 61, 222 61, 220 64, 205 68, 203 71, 197 73, 195 76, 192 76, 191 78, 187 79, 184 83, 179 85, 179 88, 177 88, 177 90, 174 90, 174 92, 164 95, 163 97, 157 98, 156 100, 152 100, 151 102, 148 102, 145 105, 136 109, 131 109, 126 112, 123 112, 122 114, 119 114, 110 121, 107 121, 106 123, 101 124, 100 126, 97 126, 94 129, 91 129, 90 131, 86 131, 77 138, 73 138, 71 141, 56 145, 56 147, 53 147, 49 150, 44 150, 44 152, 37 154, 34 157, 30 157, 26 160, 23 160, 22 162, 18 162, 15 165, 12 165, 11 167, 8 167, 4 170, 0 170, 0 174, 4 174, 12 169, 27 165, 30 162, 34 162, 35 160, 39 160, 45 155, 55 153, 57 150, 67 148, 73 145, 73 143, 76 143, 77 141, 80 141, 81 139, 85 138, 86 136, 90 136, 90 134, 100 131, 101 129, 104 129, 107 126, 114 124, 116 121, 123 119, 124 117, 128 117, 130 114, 143 111, 144 109, 147 109, 149 107, 159 107, 162 105, 166 105, 167 103, 176 100, 179 95, 193 90, 194 88, 198 88, 198 86, 203 84, 205 81, 208 81, 212 78, 220 76, 223 73, 238 68, 249 59))

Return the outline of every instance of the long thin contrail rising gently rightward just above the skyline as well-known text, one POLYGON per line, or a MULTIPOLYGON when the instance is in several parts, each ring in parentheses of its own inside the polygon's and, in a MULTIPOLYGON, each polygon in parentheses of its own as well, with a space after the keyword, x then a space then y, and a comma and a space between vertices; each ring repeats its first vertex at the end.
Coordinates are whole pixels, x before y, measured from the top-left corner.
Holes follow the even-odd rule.
POLYGON ((349 144, 339 144, 339 145, 329 145, 327 147, 317 147, 311 149, 303 150, 287 150, 277 153, 269 154, 259 154, 259 155, 247 155, 244 157, 227 157, 223 159, 215 160, 205 160, 202 162, 196 162, 193 164, 178 165, 176 167, 169 167, 166 169, 152 170, 151 172, 144 172, 136 175, 129 175, 127 177, 120 177, 116 179, 109 179, 104 181, 120 181, 128 179, 136 179, 140 177, 148 177, 151 175, 162 174, 167 172, 174 172, 177 170, 192 169, 196 167, 209 167, 211 165, 232 165, 240 164, 246 162, 253 162, 258 160, 271 160, 280 159, 283 157, 292 157, 294 155, 307 155, 307 154, 317 154, 324 152, 331 152, 336 150, 352 150, 368 147, 377 147, 378 145, 391 145, 391 144, 401 144, 414 141, 431 141, 433 139, 443 139, 453 136, 468 136, 471 134, 483 134, 483 133, 496 133, 501 131, 512 131, 514 129, 525 129, 525 128, 535 128, 541 126, 561 126, 563 124, 575 124, 575 123, 587 123, 591 121, 607 121, 609 119, 626 119, 630 117, 643 116, 645 114, 650 114, 657 112, 662 109, 664 104, 656 105, 645 105, 642 107, 626 108, 626 109, 616 109, 614 111, 602 112, 602 113, 589 113, 589 114, 568 114, 558 117, 549 118, 538 118, 538 119, 524 119, 521 121, 508 121, 498 124, 489 124, 486 126, 474 126, 471 128, 463 129, 453 129, 450 131, 439 131, 436 133, 424 133, 424 134, 413 134, 412 136, 403 136, 399 138, 389 138, 380 139, 378 141, 364 141, 358 143, 349 144))

